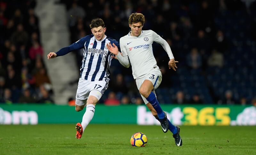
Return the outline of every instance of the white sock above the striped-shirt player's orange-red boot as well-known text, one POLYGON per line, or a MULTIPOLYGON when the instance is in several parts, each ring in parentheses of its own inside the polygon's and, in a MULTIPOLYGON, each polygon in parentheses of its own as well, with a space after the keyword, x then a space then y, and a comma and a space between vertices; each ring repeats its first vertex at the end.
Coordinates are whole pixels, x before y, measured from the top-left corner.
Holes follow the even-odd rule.
POLYGON ((91 122, 92 117, 94 115, 94 111, 95 111, 95 106, 93 104, 88 104, 86 106, 86 111, 84 113, 83 120, 81 123, 83 127, 83 131, 86 128, 86 126, 91 122))

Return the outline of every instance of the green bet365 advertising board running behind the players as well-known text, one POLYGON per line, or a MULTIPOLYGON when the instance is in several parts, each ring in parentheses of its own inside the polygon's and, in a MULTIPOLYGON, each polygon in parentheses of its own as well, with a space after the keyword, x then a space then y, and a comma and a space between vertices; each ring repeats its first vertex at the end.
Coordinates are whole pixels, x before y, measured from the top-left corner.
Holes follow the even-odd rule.
MULTIPOLYGON (((162 105, 175 125, 256 125, 256 107, 209 105, 162 105)), ((0 124, 81 122, 84 111, 58 105, 0 104, 0 124)), ((146 106, 96 105, 91 123, 160 124, 146 106)))

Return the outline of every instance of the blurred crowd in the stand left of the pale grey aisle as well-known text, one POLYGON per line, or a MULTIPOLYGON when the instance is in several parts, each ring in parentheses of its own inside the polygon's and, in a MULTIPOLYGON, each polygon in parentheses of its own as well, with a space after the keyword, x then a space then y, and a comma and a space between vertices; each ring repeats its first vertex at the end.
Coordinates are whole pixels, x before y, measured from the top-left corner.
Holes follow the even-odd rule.
POLYGON ((0 2, 0 103, 53 103, 36 1, 0 2))

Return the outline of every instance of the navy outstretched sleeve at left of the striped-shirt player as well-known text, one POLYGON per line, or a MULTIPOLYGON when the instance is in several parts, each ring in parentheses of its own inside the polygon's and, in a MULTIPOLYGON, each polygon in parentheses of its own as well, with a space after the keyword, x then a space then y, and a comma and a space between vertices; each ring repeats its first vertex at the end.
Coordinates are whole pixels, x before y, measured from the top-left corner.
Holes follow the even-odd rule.
POLYGON ((66 55, 71 51, 84 48, 84 43, 88 38, 89 38, 89 36, 83 37, 80 40, 69 45, 68 47, 61 48, 58 52, 56 52, 57 56, 66 55))

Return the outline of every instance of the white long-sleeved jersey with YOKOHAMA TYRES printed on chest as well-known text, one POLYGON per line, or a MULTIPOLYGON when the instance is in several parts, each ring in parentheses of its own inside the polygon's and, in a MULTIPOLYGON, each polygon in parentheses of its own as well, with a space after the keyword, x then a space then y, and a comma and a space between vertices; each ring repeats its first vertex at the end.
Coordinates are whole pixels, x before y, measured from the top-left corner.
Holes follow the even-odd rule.
POLYGON ((130 33, 120 38, 120 48, 123 57, 128 55, 134 79, 142 78, 155 68, 159 69, 152 50, 154 41, 163 46, 170 59, 174 58, 168 43, 154 31, 142 31, 138 37, 131 36, 130 33))

